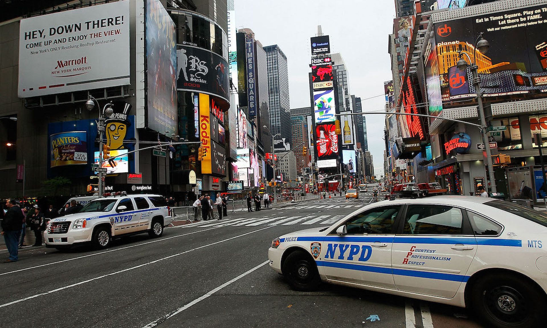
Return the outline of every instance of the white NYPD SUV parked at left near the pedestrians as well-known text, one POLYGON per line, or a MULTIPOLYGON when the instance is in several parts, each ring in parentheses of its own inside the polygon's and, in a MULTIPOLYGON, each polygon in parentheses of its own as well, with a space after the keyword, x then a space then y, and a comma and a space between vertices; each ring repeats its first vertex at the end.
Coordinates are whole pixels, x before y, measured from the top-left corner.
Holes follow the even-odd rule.
POLYGON ((128 234, 148 232, 150 237, 160 237, 171 221, 161 195, 122 194, 91 200, 78 213, 50 220, 44 239, 51 248, 91 243, 103 249, 112 238, 128 234))

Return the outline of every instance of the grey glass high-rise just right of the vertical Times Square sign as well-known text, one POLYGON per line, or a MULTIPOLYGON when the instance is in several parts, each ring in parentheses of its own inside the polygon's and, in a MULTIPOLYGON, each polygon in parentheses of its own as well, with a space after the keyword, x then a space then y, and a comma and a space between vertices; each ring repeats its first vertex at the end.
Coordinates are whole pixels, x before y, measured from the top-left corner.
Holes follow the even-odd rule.
POLYGON ((268 68, 271 133, 281 134, 276 140, 283 140, 277 144, 276 151, 288 151, 291 145, 291 129, 287 56, 277 44, 268 45, 264 50, 268 68))

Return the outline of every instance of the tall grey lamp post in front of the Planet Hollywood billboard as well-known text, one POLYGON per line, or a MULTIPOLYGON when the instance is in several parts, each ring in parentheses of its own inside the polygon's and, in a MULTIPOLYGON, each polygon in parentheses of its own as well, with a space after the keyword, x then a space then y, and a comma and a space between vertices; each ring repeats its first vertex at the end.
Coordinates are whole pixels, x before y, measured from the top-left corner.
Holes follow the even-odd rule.
POLYGON ((482 38, 482 32, 480 32, 479 37, 475 41, 475 48, 473 49, 473 61, 471 60, 471 57, 463 52, 459 52, 459 60, 456 64, 459 70, 464 71, 467 69, 467 67, 470 65, 471 73, 473 75, 473 86, 475 87, 476 92, 476 99, 477 103, 479 105, 479 117, 480 117, 480 130, 482 134, 482 142, 484 142, 484 148, 486 151, 486 165, 487 171, 488 171, 488 178, 490 179, 490 187, 493 193, 497 192, 496 189, 496 178, 494 177, 494 167, 492 163, 492 152, 490 151, 490 141, 488 141, 488 136, 486 134, 486 117, 484 114, 484 106, 482 105, 482 93, 480 89, 480 77, 478 68, 479 66, 476 65, 476 51, 479 49, 481 54, 486 54, 488 51, 488 48, 490 48, 490 44, 488 44, 488 41, 486 41, 484 38, 482 38), (467 57, 470 64, 463 59, 463 55, 467 57))

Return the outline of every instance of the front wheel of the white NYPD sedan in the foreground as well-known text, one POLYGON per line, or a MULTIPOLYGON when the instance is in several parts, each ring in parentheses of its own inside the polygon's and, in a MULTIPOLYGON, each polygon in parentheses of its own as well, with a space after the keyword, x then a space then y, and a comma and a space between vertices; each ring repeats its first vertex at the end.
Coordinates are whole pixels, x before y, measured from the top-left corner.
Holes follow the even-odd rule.
POLYGON ((315 261, 305 251, 290 253, 283 262, 283 275, 294 290, 312 291, 321 284, 315 261))

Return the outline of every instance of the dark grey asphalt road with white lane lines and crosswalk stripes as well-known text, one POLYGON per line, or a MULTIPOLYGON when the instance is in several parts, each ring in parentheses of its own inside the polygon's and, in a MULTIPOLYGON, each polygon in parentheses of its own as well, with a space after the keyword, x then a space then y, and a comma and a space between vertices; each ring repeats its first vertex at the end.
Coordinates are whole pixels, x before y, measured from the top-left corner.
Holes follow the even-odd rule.
POLYGON ((22 250, 0 263, 0 327, 478 327, 457 307, 335 285, 296 292, 267 265, 272 239, 326 227, 371 198, 229 213, 103 251, 22 250))

